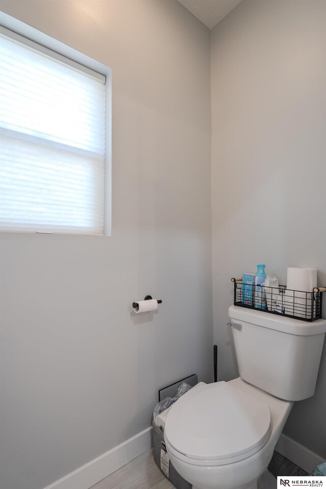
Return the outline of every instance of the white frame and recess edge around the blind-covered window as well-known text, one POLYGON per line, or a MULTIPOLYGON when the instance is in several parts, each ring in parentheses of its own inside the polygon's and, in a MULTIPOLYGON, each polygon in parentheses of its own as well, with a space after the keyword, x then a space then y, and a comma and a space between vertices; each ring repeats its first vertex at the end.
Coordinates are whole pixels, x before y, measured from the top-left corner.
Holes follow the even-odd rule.
POLYGON ((11 17, 4 12, 0 12, 0 24, 14 34, 23 37, 27 42, 36 43, 37 49, 44 50, 49 49, 53 52, 53 57, 59 55, 65 59, 68 59, 79 66, 85 67, 85 70, 92 70, 105 76, 105 153, 104 153, 104 233, 103 234, 91 234, 91 233, 68 233, 64 231, 53 231, 52 233, 44 231, 28 231, 28 230, 1 230, 3 233, 23 233, 23 234, 64 234, 74 236, 111 236, 112 229, 112 70, 110 67, 100 63, 99 61, 90 58, 84 53, 73 49, 70 46, 54 39, 47 34, 33 28, 32 26, 25 24, 24 22, 11 17))

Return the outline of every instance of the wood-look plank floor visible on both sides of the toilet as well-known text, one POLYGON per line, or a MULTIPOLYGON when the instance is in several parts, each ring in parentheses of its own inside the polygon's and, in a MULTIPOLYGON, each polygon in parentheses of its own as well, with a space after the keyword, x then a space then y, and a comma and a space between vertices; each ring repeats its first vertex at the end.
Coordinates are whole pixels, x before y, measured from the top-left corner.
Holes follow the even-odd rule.
MULTIPOLYGON (((274 477, 278 475, 307 475, 290 460, 274 452, 268 466, 274 477)), ((105 479, 97 482, 91 489, 173 489, 174 485, 156 466, 153 449, 147 450, 129 464, 121 467, 105 479)), ((175 489, 175 488, 174 488, 175 489)))

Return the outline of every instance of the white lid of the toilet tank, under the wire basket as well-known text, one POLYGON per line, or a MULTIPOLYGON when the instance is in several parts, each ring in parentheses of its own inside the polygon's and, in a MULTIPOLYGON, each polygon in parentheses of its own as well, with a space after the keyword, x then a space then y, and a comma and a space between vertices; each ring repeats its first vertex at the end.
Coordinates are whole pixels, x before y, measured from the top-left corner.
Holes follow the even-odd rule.
POLYGON ((239 306, 229 307, 229 317, 290 335, 313 336, 326 333, 326 319, 317 319, 313 322, 302 321, 239 306))

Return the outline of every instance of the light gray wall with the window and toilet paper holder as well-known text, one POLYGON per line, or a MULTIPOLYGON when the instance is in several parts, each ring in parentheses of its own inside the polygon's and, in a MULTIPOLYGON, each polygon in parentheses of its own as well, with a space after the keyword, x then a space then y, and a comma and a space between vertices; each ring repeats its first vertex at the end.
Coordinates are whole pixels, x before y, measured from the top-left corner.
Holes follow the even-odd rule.
POLYGON ((210 39, 176 0, 1 8, 113 77, 112 237, 2 235, 0 485, 41 489, 212 379, 210 39))

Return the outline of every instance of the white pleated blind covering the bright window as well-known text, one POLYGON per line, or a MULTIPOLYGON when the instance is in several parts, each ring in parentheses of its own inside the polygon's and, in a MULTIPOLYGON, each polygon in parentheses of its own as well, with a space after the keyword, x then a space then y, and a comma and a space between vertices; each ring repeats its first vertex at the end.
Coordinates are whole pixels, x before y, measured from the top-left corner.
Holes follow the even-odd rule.
POLYGON ((0 225, 103 234, 105 77, 2 28, 0 225))

